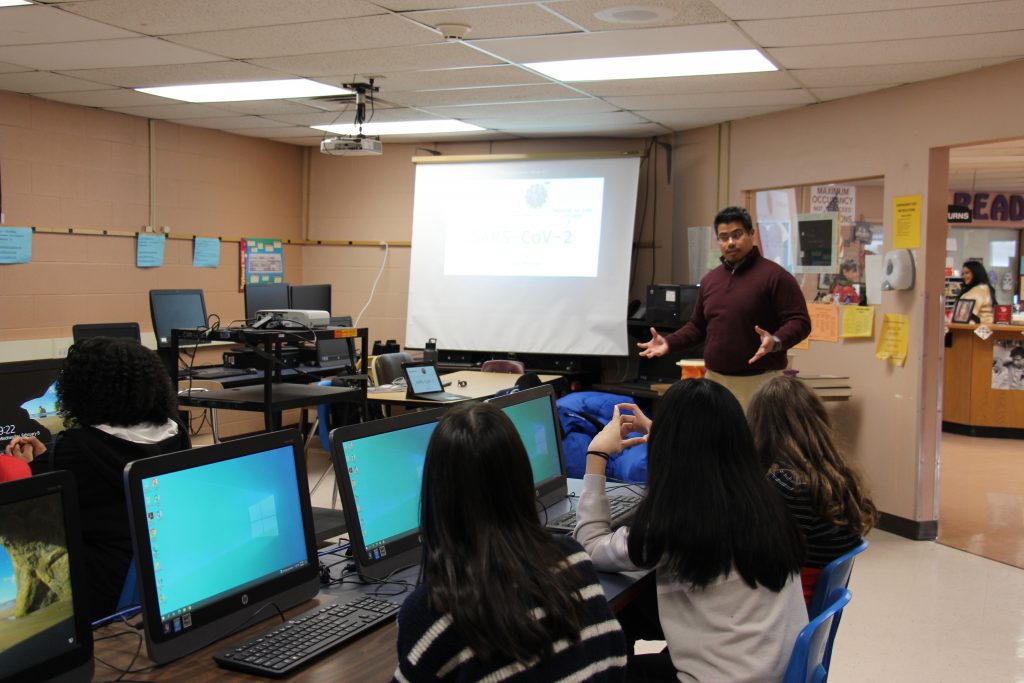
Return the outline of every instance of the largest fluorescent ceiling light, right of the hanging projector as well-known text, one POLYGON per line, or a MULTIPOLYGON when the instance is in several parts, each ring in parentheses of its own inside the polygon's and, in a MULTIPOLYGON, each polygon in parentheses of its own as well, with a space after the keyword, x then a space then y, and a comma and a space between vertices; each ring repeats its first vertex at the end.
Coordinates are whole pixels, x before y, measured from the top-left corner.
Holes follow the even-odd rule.
POLYGON ((715 50, 711 52, 679 52, 677 54, 646 54, 633 57, 534 61, 524 66, 564 82, 620 81, 639 78, 778 71, 757 50, 715 50))

